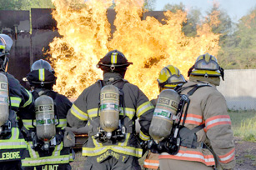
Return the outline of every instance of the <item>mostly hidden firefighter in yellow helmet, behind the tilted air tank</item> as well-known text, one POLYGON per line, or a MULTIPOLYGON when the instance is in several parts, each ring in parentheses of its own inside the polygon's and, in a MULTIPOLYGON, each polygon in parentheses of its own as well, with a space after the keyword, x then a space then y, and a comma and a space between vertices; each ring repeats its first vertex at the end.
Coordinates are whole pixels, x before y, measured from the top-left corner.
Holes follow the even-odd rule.
MULTIPOLYGON (((164 89, 174 89, 178 84, 183 84, 186 82, 183 75, 180 73, 177 67, 173 65, 168 65, 167 67, 163 67, 161 70, 159 77, 157 79, 159 92, 162 92, 164 89)), ((156 103, 158 98, 151 100, 153 106, 156 107, 156 103)), ((159 161, 158 161, 158 153, 149 152, 147 158, 144 160, 143 168, 147 169, 158 169, 159 161)))

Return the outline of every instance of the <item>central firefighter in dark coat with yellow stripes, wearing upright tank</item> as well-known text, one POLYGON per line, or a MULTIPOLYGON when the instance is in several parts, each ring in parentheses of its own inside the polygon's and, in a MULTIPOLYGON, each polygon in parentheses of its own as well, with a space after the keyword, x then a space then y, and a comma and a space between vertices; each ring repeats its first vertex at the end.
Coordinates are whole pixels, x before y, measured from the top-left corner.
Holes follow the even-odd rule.
POLYGON ((123 79, 130 64, 122 52, 108 52, 97 64, 103 70, 103 80, 86 88, 68 112, 71 127, 88 123, 84 169, 141 169, 138 158, 143 149, 136 137, 135 120, 141 125, 139 140, 147 141, 153 105, 137 86, 123 79))

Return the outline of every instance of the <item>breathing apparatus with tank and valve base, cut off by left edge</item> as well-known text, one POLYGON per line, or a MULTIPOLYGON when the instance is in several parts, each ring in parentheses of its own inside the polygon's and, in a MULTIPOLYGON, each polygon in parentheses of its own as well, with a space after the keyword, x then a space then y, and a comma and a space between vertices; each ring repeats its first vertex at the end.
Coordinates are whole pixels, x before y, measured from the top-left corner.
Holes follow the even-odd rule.
POLYGON ((0 72, 0 135, 5 136, 12 133, 12 122, 9 117, 9 92, 8 77, 0 72))

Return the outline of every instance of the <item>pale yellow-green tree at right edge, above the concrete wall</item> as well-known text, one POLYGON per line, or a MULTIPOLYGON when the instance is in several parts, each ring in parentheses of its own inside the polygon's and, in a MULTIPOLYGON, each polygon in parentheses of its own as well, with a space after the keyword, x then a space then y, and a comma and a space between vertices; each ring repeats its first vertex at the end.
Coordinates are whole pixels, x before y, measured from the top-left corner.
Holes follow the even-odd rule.
POLYGON ((225 42, 218 55, 224 68, 256 68, 256 7, 239 20, 225 42))

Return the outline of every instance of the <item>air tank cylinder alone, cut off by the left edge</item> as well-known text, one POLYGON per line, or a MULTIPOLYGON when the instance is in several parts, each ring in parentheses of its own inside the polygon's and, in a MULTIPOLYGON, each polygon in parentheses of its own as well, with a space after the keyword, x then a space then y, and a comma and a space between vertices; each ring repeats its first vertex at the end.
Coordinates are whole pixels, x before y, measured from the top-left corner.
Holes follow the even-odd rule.
POLYGON ((0 72, 0 126, 3 126, 9 117, 8 93, 8 77, 3 72, 0 72))

